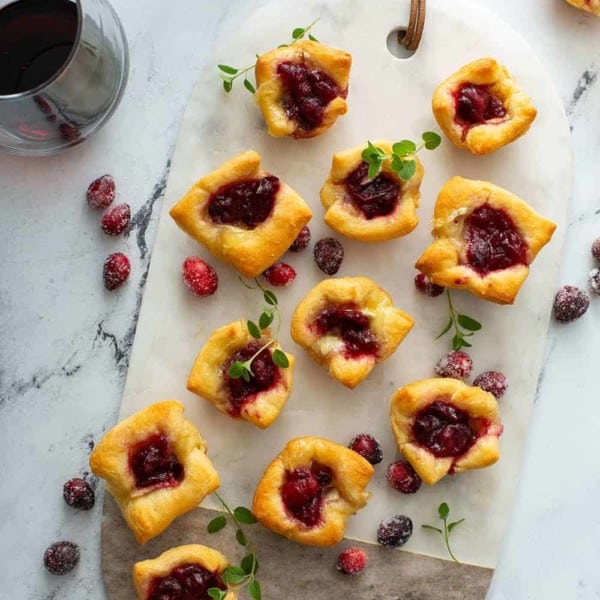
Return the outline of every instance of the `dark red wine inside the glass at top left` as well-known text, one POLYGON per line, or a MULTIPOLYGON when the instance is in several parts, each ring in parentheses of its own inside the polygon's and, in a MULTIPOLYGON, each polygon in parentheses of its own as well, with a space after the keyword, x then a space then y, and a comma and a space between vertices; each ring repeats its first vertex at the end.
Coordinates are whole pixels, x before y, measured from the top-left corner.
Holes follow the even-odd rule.
POLYGON ((48 81, 65 64, 77 39, 72 0, 19 0, 0 10, 0 95, 48 81))

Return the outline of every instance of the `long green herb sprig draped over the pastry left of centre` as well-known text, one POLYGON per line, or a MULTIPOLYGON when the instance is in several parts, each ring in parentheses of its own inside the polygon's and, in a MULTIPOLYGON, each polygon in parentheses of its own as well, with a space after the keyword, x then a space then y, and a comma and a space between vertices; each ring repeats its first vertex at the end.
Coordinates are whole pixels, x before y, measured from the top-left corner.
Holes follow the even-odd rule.
MULTIPOLYGON (((263 311, 258 318, 258 325, 254 321, 246 321, 246 326, 248 327, 248 333, 256 340, 260 340, 263 337, 264 331, 271 325, 275 316, 277 316, 277 333, 275 336, 272 336, 268 342, 266 342, 259 350, 257 350, 248 360, 242 362, 240 360, 236 360, 229 366, 229 370, 227 374, 232 379, 239 379, 240 377, 244 381, 250 381, 251 377, 254 377, 254 373, 252 372, 252 361, 266 348, 271 346, 277 341, 277 337, 279 336, 279 330, 281 329, 281 311, 279 310, 279 303, 277 300, 277 296, 268 289, 265 289, 258 279, 255 279, 256 286, 248 285, 241 277, 240 281, 251 290, 260 289, 263 293, 263 297, 267 306, 263 306, 263 311)), ((290 361, 288 357, 285 355, 285 352, 276 348, 273 350, 273 354, 271 355, 273 362, 282 369, 287 369, 290 366, 290 361)))

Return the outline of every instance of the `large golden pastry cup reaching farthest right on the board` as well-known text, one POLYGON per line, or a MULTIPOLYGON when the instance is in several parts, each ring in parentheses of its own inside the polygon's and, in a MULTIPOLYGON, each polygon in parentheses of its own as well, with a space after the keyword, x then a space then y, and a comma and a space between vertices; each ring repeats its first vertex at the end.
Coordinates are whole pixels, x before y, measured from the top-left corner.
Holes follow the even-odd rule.
POLYGON ((555 229, 509 191, 453 177, 435 204, 434 242, 415 266, 438 285, 512 304, 555 229))

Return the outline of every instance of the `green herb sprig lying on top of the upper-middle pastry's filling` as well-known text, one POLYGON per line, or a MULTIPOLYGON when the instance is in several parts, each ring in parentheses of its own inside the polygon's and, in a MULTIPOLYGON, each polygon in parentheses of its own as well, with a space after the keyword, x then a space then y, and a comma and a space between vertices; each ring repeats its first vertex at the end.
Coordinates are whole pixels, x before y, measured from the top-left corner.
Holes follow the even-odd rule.
POLYGON ((389 160, 390 169, 397 173, 400 179, 408 181, 417 170, 417 161, 412 156, 417 152, 426 148, 427 150, 435 150, 442 138, 434 131, 425 131, 421 135, 423 140, 419 145, 411 140, 402 140, 396 142, 392 146, 392 153, 387 154, 385 150, 375 146, 372 142, 367 142, 367 147, 362 152, 362 159, 369 165, 367 177, 373 179, 377 176, 384 161, 389 160))

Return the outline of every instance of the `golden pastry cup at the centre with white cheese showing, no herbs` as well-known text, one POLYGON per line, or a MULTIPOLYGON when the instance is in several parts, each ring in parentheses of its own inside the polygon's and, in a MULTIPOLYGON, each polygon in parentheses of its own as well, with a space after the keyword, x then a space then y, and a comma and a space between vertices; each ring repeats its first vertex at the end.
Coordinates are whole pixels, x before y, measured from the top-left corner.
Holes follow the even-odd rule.
POLYGON ((325 279, 300 301, 291 334, 318 364, 349 388, 393 354, 414 321, 367 277, 325 279))

